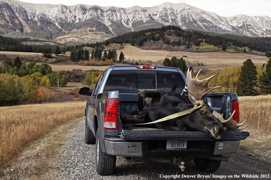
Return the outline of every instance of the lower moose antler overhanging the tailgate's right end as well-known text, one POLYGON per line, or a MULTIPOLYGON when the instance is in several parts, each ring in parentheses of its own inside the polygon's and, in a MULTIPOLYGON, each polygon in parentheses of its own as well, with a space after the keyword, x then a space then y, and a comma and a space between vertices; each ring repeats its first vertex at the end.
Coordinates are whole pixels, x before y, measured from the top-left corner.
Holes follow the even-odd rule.
POLYGON ((219 119, 222 123, 224 128, 227 128, 228 130, 243 130, 245 128, 248 127, 248 125, 244 128, 239 128, 240 126, 242 126, 244 122, 242 122, 241 124, 237 124, 234 120, 233 120, 233 116, 234 116, 235 110, 233 111, 232 115, 229 117, 229 119, 225 120, 223 118, 223 113, 220 114, 216 111, 213 111, 213 116, 216 117, 217 119, 219 119))

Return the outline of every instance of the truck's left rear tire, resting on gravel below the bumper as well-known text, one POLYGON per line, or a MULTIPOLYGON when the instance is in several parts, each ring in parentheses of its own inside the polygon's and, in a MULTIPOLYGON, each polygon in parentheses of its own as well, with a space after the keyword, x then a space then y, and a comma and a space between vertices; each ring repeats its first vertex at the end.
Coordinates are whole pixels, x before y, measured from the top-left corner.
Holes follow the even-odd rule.
POLYGON ((102 151, 99 130, 96 133, 96 171, 99 175, 111 175, 116 167, 116 156, 108 155, 102 151))

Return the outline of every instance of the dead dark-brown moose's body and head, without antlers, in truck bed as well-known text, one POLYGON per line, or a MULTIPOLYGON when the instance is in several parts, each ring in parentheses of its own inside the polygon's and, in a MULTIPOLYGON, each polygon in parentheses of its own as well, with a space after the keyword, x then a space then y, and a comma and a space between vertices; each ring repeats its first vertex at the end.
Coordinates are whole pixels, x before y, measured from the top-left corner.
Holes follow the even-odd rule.
MULTIPOLYGON (((139 91, 139 109, 143 107, 142 97, 146 98, 150 108, 146 109, 145 115, 139 118, 124 117, 124 123, 147 123, 153 122, 166 116, 193 108, 187 96, 175 92, 163 91, 139 91)), ((210 137, 220 139, 223 133, 223 124, 210 113, 207 106, 203 106, 192 113, 170 119, 164 122, 143 125, 145 127, 160 128, 175 131, 203 131, 210 137)))

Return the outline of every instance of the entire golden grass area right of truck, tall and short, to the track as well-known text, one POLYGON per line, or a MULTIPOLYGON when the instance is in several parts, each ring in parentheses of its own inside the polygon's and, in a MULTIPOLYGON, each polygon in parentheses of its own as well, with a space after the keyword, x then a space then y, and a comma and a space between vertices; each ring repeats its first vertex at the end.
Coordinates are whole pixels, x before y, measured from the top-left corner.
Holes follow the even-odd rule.
POLYGON ((238 97, 240 121, 248 125, 250 136, 241 141, 240 148, 249 155, 271 155, 271 95, 238 97))

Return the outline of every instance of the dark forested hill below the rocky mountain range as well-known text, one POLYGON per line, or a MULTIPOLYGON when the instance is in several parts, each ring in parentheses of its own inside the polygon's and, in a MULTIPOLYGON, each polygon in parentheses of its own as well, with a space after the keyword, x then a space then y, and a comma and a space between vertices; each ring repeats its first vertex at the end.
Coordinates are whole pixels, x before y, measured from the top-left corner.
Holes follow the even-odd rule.
MULTIPOLYGON (((164 46, 164 48, 168 50, 186 50, 196 52, 198 50, 198 52, 203 52, 204 48, 201 48, 202 45, 213 46, 213 48, 207 48, 209 51, 225 51, 226 49, 234 49, 236 51, 240 51, 238 47, 246 47, 247 49, 245 51, 244 49, 241 49, 244 52, 248 50, 267 53, 271 50, 270 37, 252 38, 229 34, 220 35, 210 32, 208 33, 195 30, 184 30, 178 26, 163 26, 161 28, 129 32, 124 35, 108 39, 99 44, 84 44, 83 46, 94 47, 97 45, 108 45, 111 43, 130 43, 132 46, 144 46, 146 45, 146 42, 152 43, 153 41, 162 41, 164 44, 170 45, 164 46)), ((149 47, 150 49, 157 49, 157 47, 155 47, 155 45, 158 46, 157 44, 151 45, 154 47, 149 47)))

